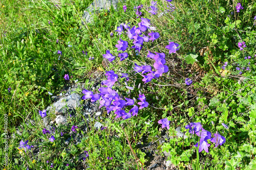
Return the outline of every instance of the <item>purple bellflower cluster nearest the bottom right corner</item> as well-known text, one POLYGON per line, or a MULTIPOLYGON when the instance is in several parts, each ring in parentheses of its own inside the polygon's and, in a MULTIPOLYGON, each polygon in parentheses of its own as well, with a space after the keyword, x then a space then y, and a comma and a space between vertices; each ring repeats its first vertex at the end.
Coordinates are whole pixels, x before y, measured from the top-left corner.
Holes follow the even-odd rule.
POLYGON ((218 145, 222 145, 226 141, 225 137, 221 136, 218 132, 214 134, 215 137, 211 138, 211 133, 203 129, 201 123, 190 123, 189 125, 185 126, 185 129, 188 129, 190 134, 196 134, 200 137, 199 142, 194 145, 195 147, 199 146, 199 152, 204 150, 205 152, 209 153, 208 147, 210 144, 207 141, 208 139, 210 139, 211 142, 216 143, 216 148, 218 145))

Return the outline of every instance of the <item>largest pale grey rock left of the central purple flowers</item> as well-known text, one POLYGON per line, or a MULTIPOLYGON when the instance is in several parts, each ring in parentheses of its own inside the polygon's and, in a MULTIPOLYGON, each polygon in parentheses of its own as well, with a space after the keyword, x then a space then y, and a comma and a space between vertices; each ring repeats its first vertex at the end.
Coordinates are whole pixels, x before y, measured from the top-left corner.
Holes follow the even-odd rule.
POLYGON ((53 112, 56 115, 65 114, 76 110, 77 107, 80 107, 81 97, 77 93, 72 93, 71 95, 61 98, 59 101, 55 102, 52 106, 47 107, 49 112, 53 112), (66 107, 67 105, 67 107, 66 107))

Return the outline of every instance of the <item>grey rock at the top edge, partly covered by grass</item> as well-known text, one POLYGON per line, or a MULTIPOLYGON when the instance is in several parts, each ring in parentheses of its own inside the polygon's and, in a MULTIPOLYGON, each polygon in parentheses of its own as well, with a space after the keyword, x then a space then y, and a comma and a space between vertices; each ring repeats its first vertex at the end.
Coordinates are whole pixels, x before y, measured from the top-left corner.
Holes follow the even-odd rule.
POLYGON ((94 13, 99 13, 99 11, 102 9, 110 10, 111 5, 113 5, 114 9, 116 9, 117 3, 118 0, 94 0, 93 3, 83 12, 82 25, 84 25, 84 22, 92 22, 92 15, 94 13))

